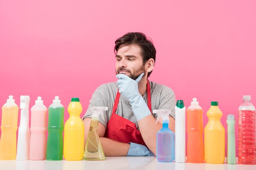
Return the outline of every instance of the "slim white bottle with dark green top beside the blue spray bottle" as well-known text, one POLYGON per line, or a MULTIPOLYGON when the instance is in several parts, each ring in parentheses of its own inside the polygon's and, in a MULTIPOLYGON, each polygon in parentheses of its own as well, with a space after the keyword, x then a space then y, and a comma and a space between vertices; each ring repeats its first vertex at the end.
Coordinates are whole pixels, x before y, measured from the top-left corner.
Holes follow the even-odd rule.
POLYGON ((186 107, 183 100, 177 100, 175 106, 175 162, 186 162, 186 107))

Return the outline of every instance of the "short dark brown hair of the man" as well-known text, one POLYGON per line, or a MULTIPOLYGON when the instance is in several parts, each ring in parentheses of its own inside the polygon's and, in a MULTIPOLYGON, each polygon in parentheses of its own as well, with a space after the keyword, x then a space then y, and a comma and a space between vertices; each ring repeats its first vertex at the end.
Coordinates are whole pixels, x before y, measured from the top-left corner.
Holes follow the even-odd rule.
MULTIPOLYGON (((117 50, 123 46, 135 44, 141 48, 141 55, 143 57, 143 64, 146 63, 149 59, 154 59, 155 61, 155 54, 156 50, 153 45, 152 39, 146 37, 144 33, 127 33, 122 37, 119 37, 115 41, 115 48, 114 52, 117 54, 117 50)), ((152 72, 152 71, 151 71, 152 72)), ((150 76, 151 72, 148 73, 148 77, 150 76)))

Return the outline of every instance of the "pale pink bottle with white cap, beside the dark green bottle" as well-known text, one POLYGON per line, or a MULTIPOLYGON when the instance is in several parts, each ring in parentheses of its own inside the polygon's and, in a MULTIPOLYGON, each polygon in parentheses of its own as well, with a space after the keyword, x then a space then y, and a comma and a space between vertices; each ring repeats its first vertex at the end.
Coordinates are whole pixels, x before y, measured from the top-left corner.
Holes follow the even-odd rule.
POLYGON ((31 108, 31 137, 29 147, 30 160, 44 160, 46 153, 47 107, 38 97, 31 108))

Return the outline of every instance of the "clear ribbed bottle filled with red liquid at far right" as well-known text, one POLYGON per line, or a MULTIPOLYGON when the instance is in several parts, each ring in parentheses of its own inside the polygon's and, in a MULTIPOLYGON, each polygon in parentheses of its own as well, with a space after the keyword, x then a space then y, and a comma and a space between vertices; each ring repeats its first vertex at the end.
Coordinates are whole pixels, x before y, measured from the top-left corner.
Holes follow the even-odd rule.
POLYGON ((238 109, 238 163, 256 164, 256 118, 251 96, 243 96, 238 109))

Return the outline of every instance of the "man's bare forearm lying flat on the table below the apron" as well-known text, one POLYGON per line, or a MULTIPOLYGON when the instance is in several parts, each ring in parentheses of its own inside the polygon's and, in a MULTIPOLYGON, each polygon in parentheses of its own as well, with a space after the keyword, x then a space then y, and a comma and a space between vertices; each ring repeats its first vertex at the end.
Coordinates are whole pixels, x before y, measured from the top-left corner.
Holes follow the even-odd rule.
POLYGON ((130 144, 114 141, 106 137, 100 137, 105 156, 126 156, 130 144))

